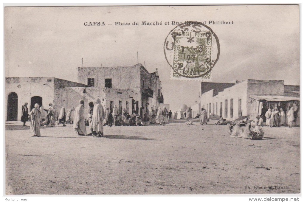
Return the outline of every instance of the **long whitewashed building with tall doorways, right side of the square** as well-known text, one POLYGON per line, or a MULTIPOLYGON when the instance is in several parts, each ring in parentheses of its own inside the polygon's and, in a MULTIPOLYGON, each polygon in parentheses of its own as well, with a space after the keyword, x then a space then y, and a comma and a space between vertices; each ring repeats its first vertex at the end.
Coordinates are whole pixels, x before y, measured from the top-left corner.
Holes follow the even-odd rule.
MULTIPOLYGON (((235 83, 221 85, 214 83, 213 87, 212 84, 208 83, 208 88, 204 87, 203 89, 202 87, 203 93, 200 98, 200 104, 202 108, 206 109, 208 118, 210 116, 222 116, 224 119, 233 120, 239 116, 247 116, 253 119, 258 116, 259 112, 256 108, 252 109, 252 98, 250 97, 261 95, 286 97, 290 94, 290 89, 296 91, 299 88, 297 86, 286 86, 283 80, 247 79, 241 82, 236 81, 235 83)), ((299 98, 290 98, 289 96, 288 99, 296 100, 299 98)))

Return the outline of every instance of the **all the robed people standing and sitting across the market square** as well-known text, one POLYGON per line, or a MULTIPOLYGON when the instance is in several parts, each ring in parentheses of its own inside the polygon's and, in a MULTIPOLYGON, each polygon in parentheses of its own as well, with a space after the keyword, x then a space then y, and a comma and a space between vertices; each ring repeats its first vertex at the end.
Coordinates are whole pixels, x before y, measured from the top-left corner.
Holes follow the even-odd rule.
MULTIPOLYGON (((101 100, 98 98, 94 102, 90 102, 88 108, 88 118, 85 119, 84 116, 84 101, 80 100, 78 106, 74 109, 71 108, 67 113, 65 108, 62 107, 60 112, 57 113, 57 109, 52 103, 49 103, 49 108, 44 109, 43 106, 35 104, 34 108, 29 112, 27 107, 28 103, 22 105, 22 116, 21 122, 23 126, 26 126, 26 121, 30 120, 30 128, 32 130, 33 136, 40 136, 40 126, 46 125, 47 127, 54 127, 55 125, 63 124, 73 124, 73 128, 76 131, 77 135, 92 135, 93 137, 102 137, 103 136, 103 127, 104 126, 140 126, 150 124, 165 125, 168 120, 172 119, 171 110, 168 111, 166 107, 161 109, 159 107, 157 110, 151 108, 151 113, 149 110, 146 110, 142 107, 141 115, 138 114, 138 111, 134 111, 132 115, 129 115, 129 112, 126 109, 123 109, 122 113, 119 112, 119 109, 114 105, 113 109, 106 108, 104 110, 101 100), (72 112, 74 111, 74 116, 72 112), (89 126, 90 133, 87 134, 85 126, 89 126)), ((174 115, 175 117, 175 115, 174 115)), ((268 109, 265 113, 266 126, 269 127, 280 127, 285 125, 285 119, 287 117, 288 127, 292 128, 292 122, 295 120, 294 110, 291 107, 288 113, 285 115, 285 112, 282 108, 280 111, 278 108, 268 109)), ((199 118, 200 125, 208 123, 207 111, 202 108, 200 113, 195 117, 199 118)), ((241 121, 235 120, 226 121, 222 117, 216 123, 217 125, 226 125, 227 123, 235 124, 231 128, 232 137, 243 137, 243 138, 262 138, 264 133, 261 129, 263 126, 264 116, 257 116, 255 120, 246 121, 246 129, 243 130, 240 125, 244 124, 241 121), (250 130, 252 128, 252 130, 250 130)), ((193 125, 192 109, 189 107, 185 111, 186 125, 193 125)))

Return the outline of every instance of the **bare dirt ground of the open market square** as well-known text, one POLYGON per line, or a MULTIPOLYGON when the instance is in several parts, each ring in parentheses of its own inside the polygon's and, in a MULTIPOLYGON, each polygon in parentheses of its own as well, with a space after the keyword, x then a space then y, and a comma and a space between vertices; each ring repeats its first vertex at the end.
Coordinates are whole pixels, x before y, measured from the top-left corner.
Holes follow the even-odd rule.
POLYGON ((300 193, 299 128, 263 127, 263 140, 247 140, 214 123, 106 126, 94 138, 72 125, 31 137, 29 126, 6 122, 6 193, 300 193))

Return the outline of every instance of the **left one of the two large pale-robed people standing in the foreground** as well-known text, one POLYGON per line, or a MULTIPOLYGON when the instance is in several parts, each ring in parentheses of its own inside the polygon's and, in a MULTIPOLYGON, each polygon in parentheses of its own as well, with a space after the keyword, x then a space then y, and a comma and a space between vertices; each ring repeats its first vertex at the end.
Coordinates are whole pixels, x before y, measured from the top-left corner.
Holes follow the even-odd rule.
POLYGON ((85 118, 83 117, 84 109, 83 105, 85 102, 83 100, 79 100, 79 105, 75 108, 74 113, 74 124, 73 128, 77 132, 78 135, 87 135, 87 131, 85 129, 85 118))

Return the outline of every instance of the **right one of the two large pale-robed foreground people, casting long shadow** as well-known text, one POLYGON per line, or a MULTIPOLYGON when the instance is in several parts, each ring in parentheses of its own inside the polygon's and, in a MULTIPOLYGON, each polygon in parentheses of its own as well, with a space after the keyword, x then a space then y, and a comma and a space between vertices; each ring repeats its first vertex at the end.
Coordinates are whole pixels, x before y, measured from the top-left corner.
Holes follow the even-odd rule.
POLYGON ((92 124, 90 126, 93 137, 102 137, 103 136, 103 120, 105 118, 105 112, 101 105, 101 101, 97 98, 96 104, 94 105, 93 115, 92 115, 92 124))

